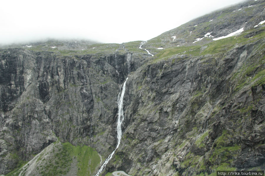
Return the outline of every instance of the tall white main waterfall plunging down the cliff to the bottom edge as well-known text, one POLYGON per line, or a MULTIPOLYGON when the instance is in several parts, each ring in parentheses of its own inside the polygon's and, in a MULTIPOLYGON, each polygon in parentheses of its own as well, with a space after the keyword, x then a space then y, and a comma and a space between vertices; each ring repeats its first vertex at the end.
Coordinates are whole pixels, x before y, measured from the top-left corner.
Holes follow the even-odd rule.
POLYGON ((122 125, 122 121, 124 119, 122 104, 123 104, 123 96, 124 96, 124 93, 125 93, 125 87, 126 87, 126 81, 127 81, 127 79, 128 78, 126 78, 125 82, 123 83, 122 92, 119 93, 118 100, 117 100, 117 102, 118 102, 118 122, 117 122, 117 138, 118 138, 118 144, 117 144, 117 147, 115 148, 115 150, 108 156, 108 158, 102 164, 102 166, 97 171, 97 174, 95 176, 99 176, 100 173, 105 169, 107 163, 110 161, 110 159, 112 158, 112 156, 114 155, 115 151, 117 150, 117 148, 120 145, 120 140, 121 140, 121 137, 122 137, 122 126, 121 125, 122 125))

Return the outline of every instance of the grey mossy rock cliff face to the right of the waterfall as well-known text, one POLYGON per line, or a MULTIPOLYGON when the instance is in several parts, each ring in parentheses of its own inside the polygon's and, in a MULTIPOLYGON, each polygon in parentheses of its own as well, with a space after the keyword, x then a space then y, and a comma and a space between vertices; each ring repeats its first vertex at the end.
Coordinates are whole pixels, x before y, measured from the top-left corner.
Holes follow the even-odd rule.
POLYGON ((199 175, 218 167, 264 168, 265 92, 261 81, 252 82, 264 67, 242 70, 264 58, 255 49, 260 42, 222 57, 177 55, 139 68, 127 83, 127 120, 114 170, 199 175), (240 79, 248 83, 238 85, 240 79))

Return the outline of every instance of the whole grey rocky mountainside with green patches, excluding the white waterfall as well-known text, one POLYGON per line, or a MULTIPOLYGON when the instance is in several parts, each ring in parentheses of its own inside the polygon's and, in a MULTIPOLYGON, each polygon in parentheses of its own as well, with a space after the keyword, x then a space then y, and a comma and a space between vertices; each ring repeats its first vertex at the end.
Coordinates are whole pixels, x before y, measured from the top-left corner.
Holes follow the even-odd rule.
POLYGON ((0 174, 95 174, 117 145, 126 77, 123 136, 102 175, 264 170, 264 3, 214 12, 184 25, 201 24, 192 32, 180 26, 140 48, 142 41, 0 50, 0 174), (201 36, 242 26, 230 38, 201 36))

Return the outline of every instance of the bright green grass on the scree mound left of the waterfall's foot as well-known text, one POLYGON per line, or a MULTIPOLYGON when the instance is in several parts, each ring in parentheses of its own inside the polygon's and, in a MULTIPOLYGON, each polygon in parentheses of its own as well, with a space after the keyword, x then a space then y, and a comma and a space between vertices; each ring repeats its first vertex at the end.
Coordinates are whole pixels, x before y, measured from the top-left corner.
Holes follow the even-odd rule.
MULTIPOLYGON (((37 158, 37 162, 38 166, 36 169, 42 176, 66 175, 74 165, 77 167, 77 176, 89 176, 92 175, 100 163, 100 156, 95 149, 87 145, 82 147, 79 145, 74 146, 67 142, 62 143, 62 145, 55 145, 50 153, 42 153, 37 158)), ((8 176, 13 175, 15 172, 10 172, 8 176)), ((22 171, 22 176, 25 173, 22 171)))

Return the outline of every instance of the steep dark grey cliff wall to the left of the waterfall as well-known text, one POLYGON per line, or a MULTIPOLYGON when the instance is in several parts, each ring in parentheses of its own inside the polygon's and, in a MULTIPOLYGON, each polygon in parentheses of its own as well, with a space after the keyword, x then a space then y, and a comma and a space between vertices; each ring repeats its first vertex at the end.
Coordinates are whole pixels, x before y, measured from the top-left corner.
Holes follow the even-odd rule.
POLYGON ((2 173, 57 138, 112 149, 119 84, 130 68, 126 54, 62 57, 9 49, 0 57, 2 173), (101 132, 105 137, 93 138, 101 132))

